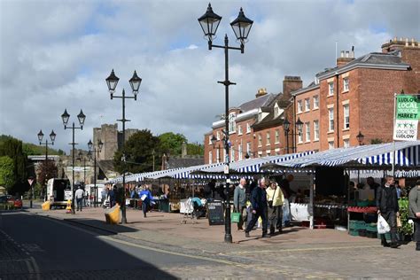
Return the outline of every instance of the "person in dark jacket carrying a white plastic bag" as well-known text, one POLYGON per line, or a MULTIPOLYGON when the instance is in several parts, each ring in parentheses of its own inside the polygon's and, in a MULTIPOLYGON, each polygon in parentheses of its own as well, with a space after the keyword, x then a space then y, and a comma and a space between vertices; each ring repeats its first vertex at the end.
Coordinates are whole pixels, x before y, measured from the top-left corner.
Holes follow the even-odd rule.
POLYGON ((381 215, 390 227, 391 244, 386 242, 385 234, 380 234, 381 244, 384 247, 398 248, 397 242, 397 216, 400 207, 398 206, 397 190, 393 185, 393 176, 386 176, 383 186, 377 188, 377 214, 381 215))

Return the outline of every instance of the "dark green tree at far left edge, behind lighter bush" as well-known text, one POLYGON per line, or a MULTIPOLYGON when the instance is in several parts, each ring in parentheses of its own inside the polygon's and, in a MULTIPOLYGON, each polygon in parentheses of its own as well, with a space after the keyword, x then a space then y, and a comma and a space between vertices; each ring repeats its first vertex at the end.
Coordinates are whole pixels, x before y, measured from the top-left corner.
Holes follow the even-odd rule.
POLYGON ((14 184, 11 192, 27 191, 27 155, 23 152, 23 144, 18 139, 10 137, 0 144, 0 157, 8 156, 13 160, 14 184))

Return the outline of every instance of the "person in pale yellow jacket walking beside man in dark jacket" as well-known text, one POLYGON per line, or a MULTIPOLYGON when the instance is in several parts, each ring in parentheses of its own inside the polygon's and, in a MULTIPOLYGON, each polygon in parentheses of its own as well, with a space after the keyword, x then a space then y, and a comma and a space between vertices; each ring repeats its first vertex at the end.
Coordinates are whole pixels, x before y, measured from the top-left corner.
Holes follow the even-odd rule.
POLYGON ((269 233, 274 234, 276 229, 282 232, 283 220, 283 191, 276 182, 272 182, 267 188, 269 233))

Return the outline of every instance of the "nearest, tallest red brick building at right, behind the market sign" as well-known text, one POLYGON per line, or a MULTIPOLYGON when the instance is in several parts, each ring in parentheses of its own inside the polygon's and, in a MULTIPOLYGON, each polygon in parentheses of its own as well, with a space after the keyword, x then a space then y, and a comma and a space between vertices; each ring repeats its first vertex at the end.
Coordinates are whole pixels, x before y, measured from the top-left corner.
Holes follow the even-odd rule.
POLYGON ((335 68, 292 92, 295 118, 304 123, 297 152, 358 145, 359 132, 362 144, 392 142, 393 97, 401 90, 420 92, 418 42, 394 39, 360 58, 342 51, 335 68))

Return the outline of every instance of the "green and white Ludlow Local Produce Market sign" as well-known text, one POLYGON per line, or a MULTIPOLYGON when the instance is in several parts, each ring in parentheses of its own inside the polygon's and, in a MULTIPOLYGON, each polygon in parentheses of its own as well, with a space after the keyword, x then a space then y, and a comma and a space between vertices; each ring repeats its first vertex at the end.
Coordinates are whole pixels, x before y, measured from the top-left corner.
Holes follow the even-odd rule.
POLYGON ((416 141, 417 126, 420 120, 420 96, 396 95, 394 118, 393 140, 416 141))

